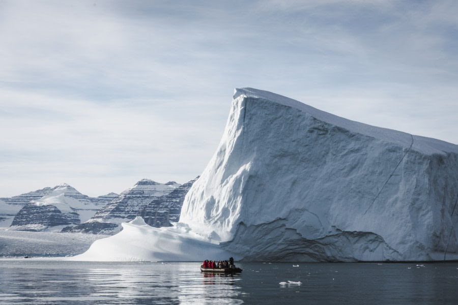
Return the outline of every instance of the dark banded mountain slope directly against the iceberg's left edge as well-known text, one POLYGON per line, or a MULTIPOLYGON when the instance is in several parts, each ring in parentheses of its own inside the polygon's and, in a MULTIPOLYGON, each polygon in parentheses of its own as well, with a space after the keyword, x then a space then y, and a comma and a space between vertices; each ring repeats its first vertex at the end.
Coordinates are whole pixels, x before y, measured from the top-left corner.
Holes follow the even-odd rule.
POLYGON ((154 199, 140 211, 139 216, 152 227, 170 227, 170 223, 180 219, 184 198, 197 179, 198 177, 154 199))

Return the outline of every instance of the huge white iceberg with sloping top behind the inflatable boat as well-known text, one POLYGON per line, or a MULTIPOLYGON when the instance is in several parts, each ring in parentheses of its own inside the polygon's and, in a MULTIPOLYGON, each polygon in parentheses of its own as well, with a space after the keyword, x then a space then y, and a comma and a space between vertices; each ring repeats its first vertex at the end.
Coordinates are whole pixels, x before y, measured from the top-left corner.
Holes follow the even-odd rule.
MULTIPOLYGON (((241 88, 179 223, 141 227, 149 248, 123 257, 199 261, 180 253, 201 240, 244 261, 453 260, 457 203, 457 145, 241 88)), ((78 259, 112 258, 102 240, 78 259)))

